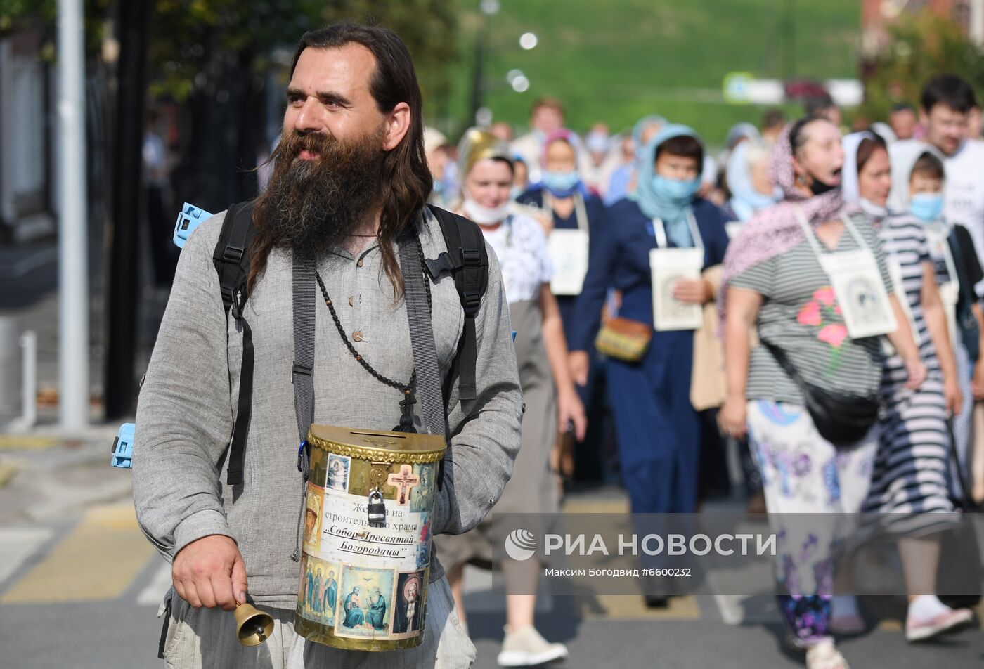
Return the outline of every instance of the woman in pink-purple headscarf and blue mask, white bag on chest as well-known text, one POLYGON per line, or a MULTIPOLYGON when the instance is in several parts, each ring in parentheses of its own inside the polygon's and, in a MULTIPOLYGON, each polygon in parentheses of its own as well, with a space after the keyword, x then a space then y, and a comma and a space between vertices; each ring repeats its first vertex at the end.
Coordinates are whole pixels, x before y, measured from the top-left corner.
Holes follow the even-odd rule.
MULTIPOLYGON (((605 214, 601 200, 591 195, 584 186, 578 169, 577 147, 576 135, 570 130, 558 130, 548 135, 544 140, 543 156, 540 159, 543 168, 540 183, 518 199, 521 205, 537 208, 547 216, 548 249, 555 272, 551 289, 557 299, 561 321, 564 323, 564 336, 568 340, 574 325, 575 305, 587 272, 590 240, 595 233, 603 234, 599 232, 599 228, 605 214)), ((590 370, 592 373, 588 374, 587 384, 578 386, 578 394, 588 413, 591 413, 590 398, 595 376, 593 360, 590 370)), ((592 418, 598 418, 596 412, 592 418)), ((600 426, 600 420, 591 420, 589 423, 600 426)), ((579 444, 579 449, 585 443, 597 444, 601 440, 599 434, 591 437, 579 444)), ((557 467, 568 478, 574 474, 574 444, 567 434, 561 436, 561 442, 557 467)))

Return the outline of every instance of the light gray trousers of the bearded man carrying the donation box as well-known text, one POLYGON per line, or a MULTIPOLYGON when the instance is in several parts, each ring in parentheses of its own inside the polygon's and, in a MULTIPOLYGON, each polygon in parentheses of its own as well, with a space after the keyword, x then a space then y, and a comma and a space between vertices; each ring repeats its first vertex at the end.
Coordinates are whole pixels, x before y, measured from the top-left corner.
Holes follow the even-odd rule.
POLYGON ((294 632, 294 612, 262 608, 274 617, 274 634, 260 645, 247 647, 236 639, 230 611, 196 609, 173 595, 171 619, 164 639, 168 669, 467 669, 475 661, 455 610, 447 578, 430 584, 427 592, 423 642, 415 648, 385 652, 340 650, 304 639, 294 632))

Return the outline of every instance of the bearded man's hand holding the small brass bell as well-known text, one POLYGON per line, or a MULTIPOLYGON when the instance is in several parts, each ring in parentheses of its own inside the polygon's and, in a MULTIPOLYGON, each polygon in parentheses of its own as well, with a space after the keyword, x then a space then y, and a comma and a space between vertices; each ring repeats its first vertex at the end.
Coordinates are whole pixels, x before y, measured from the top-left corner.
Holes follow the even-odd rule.
POLYGON ((246 601, 246 564, 236 542, 222 534, 192 541, 174 556, 171 580, 178 595, 196 609, 231 611, 246 601))

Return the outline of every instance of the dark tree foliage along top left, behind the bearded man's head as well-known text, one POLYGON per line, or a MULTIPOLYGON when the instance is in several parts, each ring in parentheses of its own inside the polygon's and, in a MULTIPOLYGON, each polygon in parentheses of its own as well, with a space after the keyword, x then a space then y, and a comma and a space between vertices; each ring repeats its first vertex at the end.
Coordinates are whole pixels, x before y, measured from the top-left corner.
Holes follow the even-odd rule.
MULTIPOLYGON (((87 52, 99 57, 118 2, 84 0, 87 52)), ((376 21, 395 30, 413 55, 424 99, 443 99, 447 66, 458 54, 457 13, 443 0, 150 0, 152 91, 187 99, 219 84, 229 69, 282 66, 305 30, 341 20, 376 21)), ((40 30, 53 55, 56 0, 0 0, 0 36, 40 30)))

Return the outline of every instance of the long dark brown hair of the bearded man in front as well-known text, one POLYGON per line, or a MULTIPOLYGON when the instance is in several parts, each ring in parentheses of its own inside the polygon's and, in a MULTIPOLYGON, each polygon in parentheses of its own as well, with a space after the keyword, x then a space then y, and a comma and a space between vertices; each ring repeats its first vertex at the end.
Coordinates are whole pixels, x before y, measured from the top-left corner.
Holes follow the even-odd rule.
MULTIPOLYGON (((400 37, 382 26, 366 26, 341 23, 321 30, 305 32, 294 50, 290 75, 301 52, 306 48, 330 49, 346 44, 361 44, 376 58, 376 67, 369 82, 369 92, 376 100, 376 108, 386 114, 400 102, 410 107, 410 127, 393 151, 387 152, 380 171, 379 248, 383 256, 383 268, 393 284, 396 295, 402 294, 403 280, 400 265, 393 251, 393 242, 427 203, 434 186, 424 155, 423 100, 413 59, 400 37)), ((273 226, 263 221, 253 221, 257 229, 250 249, 250 275, 248 287, 252 289, 257 278, 267 267, 267 258, 277 245, 273 226)))

